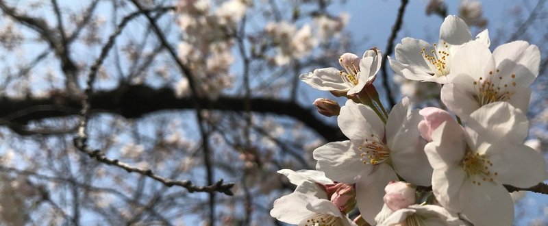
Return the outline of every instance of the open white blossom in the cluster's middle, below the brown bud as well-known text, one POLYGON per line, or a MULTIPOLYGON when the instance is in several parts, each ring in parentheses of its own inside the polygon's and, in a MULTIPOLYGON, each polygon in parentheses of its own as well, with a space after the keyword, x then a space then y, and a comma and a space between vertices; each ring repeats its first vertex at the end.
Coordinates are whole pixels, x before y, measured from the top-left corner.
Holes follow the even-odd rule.
POLYGON ((432 168, 417 129, 420 120, 407 98, 395 105, 386 127, 371 108, 349 100, 340 109, 338 125, 350 140, 314 151, 316 169, 335 181, 356 183, 358 207, 368 223, 375 223, 384 186, 397 179, 395 172, 413 184, 429 186, 432 168))

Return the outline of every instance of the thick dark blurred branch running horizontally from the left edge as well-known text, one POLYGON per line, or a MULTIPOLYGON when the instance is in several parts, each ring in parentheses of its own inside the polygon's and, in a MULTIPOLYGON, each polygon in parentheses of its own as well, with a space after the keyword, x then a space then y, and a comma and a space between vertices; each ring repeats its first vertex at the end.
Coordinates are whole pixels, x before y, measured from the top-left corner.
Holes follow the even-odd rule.
MULTIPOLYGON (((50 97, 8 99, 0 98, 0 118, 9 118, 13 123, 25 125, 29 121, 62 116, 77 116, 82 99, 64 92, 52 93, 50 97), (38 108, 40 106, 40 108, 38 108)), ((91 112, 110 112, 125 118, 139 118, 162 110, 192 110, 190 97, 177 98, 171 88, 154 89, 149 86, 120 86, 114 90, 97 91, 90 97, 91 112)), ((201 105, 212 110, 244 112, 244 97, 221 96, 216 101, 197 99, 201 105)), ((344 140, 335 125, 329 125, 314 116, 311 108, 279 99, 255 97, 249 100, 252 112, 279 114, 295 118, 316 131, 325 140, 344 140)))

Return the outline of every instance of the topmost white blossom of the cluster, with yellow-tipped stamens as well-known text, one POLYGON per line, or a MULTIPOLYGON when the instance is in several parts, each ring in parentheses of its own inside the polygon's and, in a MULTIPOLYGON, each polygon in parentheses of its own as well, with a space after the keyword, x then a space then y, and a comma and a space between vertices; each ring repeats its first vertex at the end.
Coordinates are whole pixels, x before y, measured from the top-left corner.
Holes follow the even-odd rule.
MULTIPOLYGON (((430 45, 415 38, 403 38, 396 45, 396 59, 388 57, 395 73, 415 81, 433 81, 447 84, 451 81, 450 68, 454 54, 460 45, 472 40, 466 23, 458 16, 447 16, 440 27, 440 41, 430 45)), ((490 45, 487 29, 479 33, 475 40, 490 45)))

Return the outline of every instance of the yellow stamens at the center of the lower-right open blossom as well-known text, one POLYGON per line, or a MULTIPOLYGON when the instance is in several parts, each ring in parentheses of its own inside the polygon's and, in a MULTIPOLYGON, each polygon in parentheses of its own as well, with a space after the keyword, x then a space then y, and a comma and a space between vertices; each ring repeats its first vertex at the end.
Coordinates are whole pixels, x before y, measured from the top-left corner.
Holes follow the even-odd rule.
POLYGON ((461 165, 466 175, 472 179, 472 184, 477 184, 478 186, 482 185, 482 181, 493 182, 493 177, 498 175, 497 172, 491 173, 489 170, 490 166, 493 166, 493 163, 485 155, 480 155, 473 151, 466 151, 461 165))

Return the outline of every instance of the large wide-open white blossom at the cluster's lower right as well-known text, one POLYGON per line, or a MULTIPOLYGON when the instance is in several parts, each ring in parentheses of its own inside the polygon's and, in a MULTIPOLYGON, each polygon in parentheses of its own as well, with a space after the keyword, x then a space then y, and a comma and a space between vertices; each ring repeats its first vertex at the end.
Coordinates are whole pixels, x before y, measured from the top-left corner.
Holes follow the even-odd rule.
MULTIPOLYGON (((443 110, 426 111, 449 115, 443 110)), ((429 127, 432 142, 425 146, 434 168, 432 191, 439 203, 464 214, 474 225, 511 225, 514 205, 503 184, 528 188, 548 179, 543 156, 523 145, 527 116, 509 103, 498 102, 473 112, 464 129, 450 116, 428 118, 443 121, 427 123, 434 126, 429 127)))

